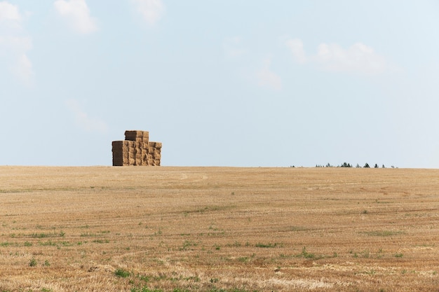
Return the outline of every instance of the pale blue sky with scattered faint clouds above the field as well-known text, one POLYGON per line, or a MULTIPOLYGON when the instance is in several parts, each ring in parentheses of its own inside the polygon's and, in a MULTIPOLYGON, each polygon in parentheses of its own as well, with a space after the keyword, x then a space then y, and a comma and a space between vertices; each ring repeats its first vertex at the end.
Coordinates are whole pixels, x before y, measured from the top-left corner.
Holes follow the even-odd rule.
POLYGON ((0 165, 439 168, 438 0, 0 0, 0 165))

